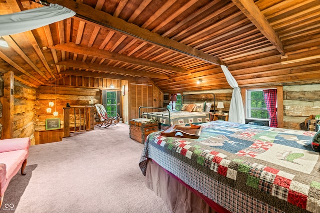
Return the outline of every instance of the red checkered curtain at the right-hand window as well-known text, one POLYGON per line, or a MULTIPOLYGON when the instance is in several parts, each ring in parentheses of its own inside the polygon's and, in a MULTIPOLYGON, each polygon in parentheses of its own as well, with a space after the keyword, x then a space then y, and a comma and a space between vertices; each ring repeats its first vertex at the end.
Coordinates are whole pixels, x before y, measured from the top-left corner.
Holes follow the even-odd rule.
POLYGON ((276 89, 264 89, 263 95, 266 109, 270 116, 270 127, 277 127, 278 123, 276 119, 276 89))

